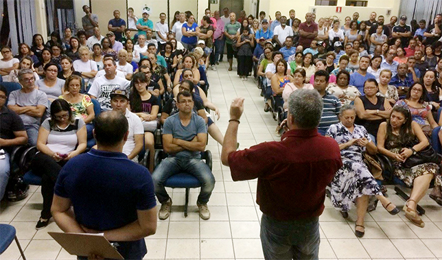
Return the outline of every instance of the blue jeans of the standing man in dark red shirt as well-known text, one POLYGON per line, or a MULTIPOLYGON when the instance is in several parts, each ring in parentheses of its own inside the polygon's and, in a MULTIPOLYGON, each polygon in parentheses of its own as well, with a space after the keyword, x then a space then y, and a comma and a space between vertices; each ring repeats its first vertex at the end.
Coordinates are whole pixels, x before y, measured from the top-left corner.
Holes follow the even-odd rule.
POLYGON ((265 259, 318 259, 318 217, 279 221, 263 214, 260 237, 265 259))

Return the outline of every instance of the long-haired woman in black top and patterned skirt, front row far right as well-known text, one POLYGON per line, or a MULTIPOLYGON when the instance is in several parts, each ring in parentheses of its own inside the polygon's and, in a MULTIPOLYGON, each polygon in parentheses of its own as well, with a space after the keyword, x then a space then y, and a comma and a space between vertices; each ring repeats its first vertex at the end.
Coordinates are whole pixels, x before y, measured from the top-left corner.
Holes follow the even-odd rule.
POLYGON ((395 166, 393 174, 405 185, 412 187, 410 199, 404 206, 405 217, 421 228, 425 223, 417 214, 417 203, 426 195, 433 178, 434 189, 430 198, 441 204, 442 179, 439 166, 436 163, 420 163, 414 166, 404 163, 415 152, 426 149, 428 144, 428 139, 419 124, 412 120, 408 106, 401 104, 394 106, 391 116, 386 122, 381 123, 377 132, 377 149, 393 161, 395 166))

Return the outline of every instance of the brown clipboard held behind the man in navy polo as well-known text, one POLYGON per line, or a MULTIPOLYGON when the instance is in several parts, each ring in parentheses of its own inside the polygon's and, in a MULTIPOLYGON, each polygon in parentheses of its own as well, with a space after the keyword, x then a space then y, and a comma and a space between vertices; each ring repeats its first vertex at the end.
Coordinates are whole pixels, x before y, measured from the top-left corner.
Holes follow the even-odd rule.
POLYGON ((124 260, 103 234, 48 232, 71 255, 87 257, 90 253, 106 259, 124 260))

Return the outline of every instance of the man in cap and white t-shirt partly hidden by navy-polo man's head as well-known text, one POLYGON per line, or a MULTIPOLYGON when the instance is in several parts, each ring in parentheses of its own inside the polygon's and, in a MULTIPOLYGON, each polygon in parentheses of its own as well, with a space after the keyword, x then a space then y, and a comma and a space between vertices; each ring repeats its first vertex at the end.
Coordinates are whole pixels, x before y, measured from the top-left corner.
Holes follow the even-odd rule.
POLYGON ((141 119, 128 110, 129 91, 126 88, 114 88, 110 93, 110 105, 112 110, 126 116, 129 123, 129 134, 123 146, 123 153, 129 160, 138 163, 138 154, 143 149, 144 128, 141 119))

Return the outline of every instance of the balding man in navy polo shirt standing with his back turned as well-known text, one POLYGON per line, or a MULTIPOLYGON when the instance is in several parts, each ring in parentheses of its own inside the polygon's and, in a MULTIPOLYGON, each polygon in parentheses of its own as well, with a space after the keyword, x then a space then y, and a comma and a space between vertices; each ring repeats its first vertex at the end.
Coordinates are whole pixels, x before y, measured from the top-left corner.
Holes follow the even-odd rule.
POLYGON ((141 260, 147 252, 144 237, 156 232, 150 172, 121 153, 128 137, 123 114, 101 113, 95 123, 98 149, 76 156, 62 168, 51 213, 62 231, 104 233, 108 241, 117 242, 124 259, 141 260))

